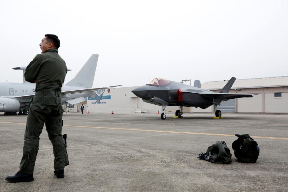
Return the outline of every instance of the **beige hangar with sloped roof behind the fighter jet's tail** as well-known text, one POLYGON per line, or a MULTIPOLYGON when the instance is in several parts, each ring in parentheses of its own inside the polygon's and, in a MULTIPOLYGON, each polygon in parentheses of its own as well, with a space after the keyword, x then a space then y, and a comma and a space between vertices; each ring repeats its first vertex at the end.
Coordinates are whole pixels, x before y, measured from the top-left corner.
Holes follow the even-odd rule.
MULTIPOLYGON (((219 93, 226 83, 225 80, 211 81, 203 83, 201 87, 219 93)), ((229 93, 258 95, 253 95, 252 98, 237 98, 221 102, 217 109, 222 112, 288 113, 288 76, 236 79, 229 93)), ((205 110, 190 107, 190 111, 213 112, 213 107, 205 110)))

